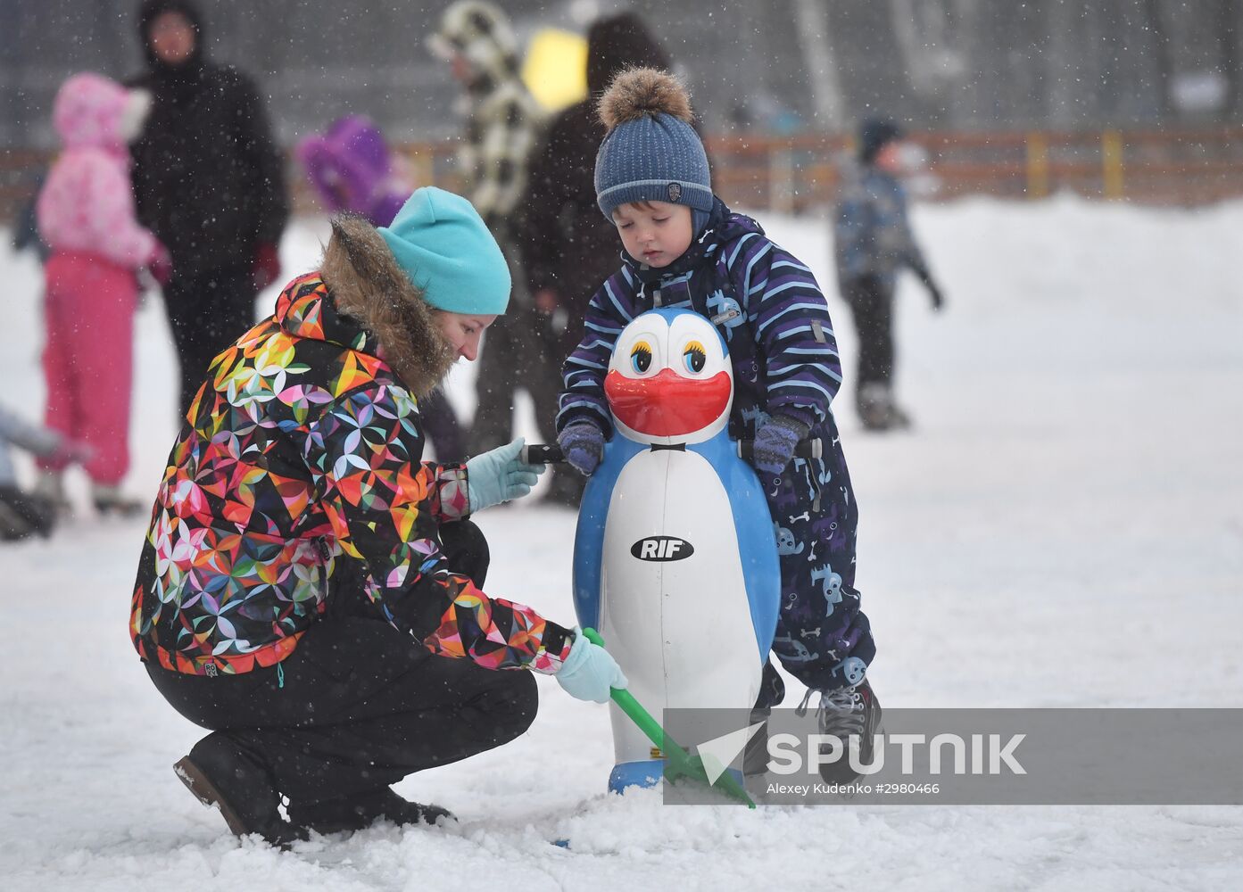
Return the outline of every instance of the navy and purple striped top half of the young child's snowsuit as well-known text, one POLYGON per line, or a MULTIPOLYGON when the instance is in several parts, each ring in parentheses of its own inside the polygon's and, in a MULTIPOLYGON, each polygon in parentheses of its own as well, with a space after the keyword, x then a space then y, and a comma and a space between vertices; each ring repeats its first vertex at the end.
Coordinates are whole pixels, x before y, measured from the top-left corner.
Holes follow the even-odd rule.
POLYGON ((675 263, 650 270, 624 252, 622 260, 592 297, 584 337, 562 369, 558 430, 587 417, 610 431, 604 374, 622 329, 654 307, 687 307, 718 319, 728 342, 733 436, 751 436, 757 419, 781 414, 828 434, 825 446, 837 437, 829 403, 842 359, 828 302, 812 271, 759 224, 717 199, 707 230, 675 263))

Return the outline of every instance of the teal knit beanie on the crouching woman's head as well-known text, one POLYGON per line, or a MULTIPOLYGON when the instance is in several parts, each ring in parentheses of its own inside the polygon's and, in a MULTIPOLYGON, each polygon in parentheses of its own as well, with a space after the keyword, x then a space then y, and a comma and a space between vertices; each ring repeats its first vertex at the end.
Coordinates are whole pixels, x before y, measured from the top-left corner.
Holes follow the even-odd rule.
POLYGON ((398 265, 436 309, 500 316, 510 303, 510 267, 479 211, 461 195, 416 189, 393 222, 377 230, 398 265))

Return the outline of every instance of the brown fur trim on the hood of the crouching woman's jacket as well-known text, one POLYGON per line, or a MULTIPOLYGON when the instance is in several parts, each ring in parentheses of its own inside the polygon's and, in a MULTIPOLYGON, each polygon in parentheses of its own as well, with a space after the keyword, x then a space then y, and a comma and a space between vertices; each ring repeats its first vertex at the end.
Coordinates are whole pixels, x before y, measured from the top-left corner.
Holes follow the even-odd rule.
POLYGON ((383 359, 415 398, 431 393, 457 360, 419 289, 364 217, 332 220, 319 266, 333 304, 375 335, 383 359))

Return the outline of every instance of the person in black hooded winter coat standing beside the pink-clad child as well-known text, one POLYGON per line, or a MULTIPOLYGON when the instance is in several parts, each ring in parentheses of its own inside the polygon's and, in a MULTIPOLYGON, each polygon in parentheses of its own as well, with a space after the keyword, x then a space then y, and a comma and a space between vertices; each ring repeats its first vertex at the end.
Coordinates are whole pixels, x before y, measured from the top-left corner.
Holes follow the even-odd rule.
POLYGON ((259 91, 208 61, 198 7, 144 0, 138 30, 147 73, 132 86, 154 103, 131 147, 134 198, 173 258, 164 303, 184 414, 211 358, 254 324, 255 296, 280 275, 288 199, 259 91))

